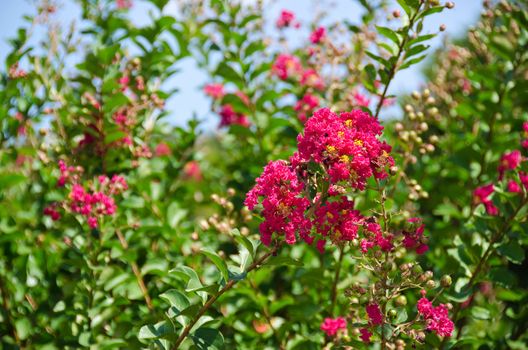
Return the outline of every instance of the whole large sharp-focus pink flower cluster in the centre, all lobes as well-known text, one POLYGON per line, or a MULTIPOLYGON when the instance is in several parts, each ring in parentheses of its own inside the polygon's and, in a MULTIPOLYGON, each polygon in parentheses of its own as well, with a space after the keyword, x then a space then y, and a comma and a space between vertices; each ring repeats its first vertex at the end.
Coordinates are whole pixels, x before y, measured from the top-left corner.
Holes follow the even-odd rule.
POLYGON ((364 253, 373 247, 392 250, 393 235, 384 235, 376 220, 354 210, 354 202, 339 190, 363 190, 368 178, 387 176, 386 167, 393 160, 388 153, 390 147, 378 139, 381 130, 379 122, 362 111, 340 115, 328 109, 315 112, 307 121, 304 134, 297 138, 298 152, 290 158, 290 164, 269 163, 247 194, 245 204, 250 210, 262 198, 262 242, 269 245, 273 233, 285 236, 288 244, 295 243, 297 235, 308 244, 317 238, 317 248, 322 252, 326 241, 351 241, 362 229, 364 253), (310 175, 306 169, 313 163, 325 169, 324 181, 331 186, 327 193, 310 200, 310 175))

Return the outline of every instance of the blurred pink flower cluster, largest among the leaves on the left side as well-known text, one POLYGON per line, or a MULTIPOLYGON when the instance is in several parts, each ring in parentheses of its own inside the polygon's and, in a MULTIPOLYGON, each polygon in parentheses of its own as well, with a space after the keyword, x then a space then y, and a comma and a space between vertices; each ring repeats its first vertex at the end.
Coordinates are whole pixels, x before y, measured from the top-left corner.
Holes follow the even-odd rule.
MULTIPOLYGON (((59 161, 61 177, 58 186, 62 187, 66 182, 72 185, 68 200, 62 205, 71 212, 84 216, 88 225, 91 228, 96 228, 99 218, 115 214, 117 205, 112 196, 126 191, 128 189, 127 182, 119 175, 114 175, 111 179, 106 175, 101 175, 98 178, 98 189, 86 190, 79 184, 78 176, 72 177, 70 175, 71 168, 66 166, 62 160, 59 161)), ((56 210, 57 206, 58 203, 54 203, 44 208, 44 215, 50 216, 54 221, 59 220, 60 213, 56 210)))

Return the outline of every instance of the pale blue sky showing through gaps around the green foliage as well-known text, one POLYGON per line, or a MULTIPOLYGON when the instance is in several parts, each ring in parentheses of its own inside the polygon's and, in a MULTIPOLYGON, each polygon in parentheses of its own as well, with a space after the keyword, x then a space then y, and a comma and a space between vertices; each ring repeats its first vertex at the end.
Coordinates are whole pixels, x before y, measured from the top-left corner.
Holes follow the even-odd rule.
MULTIPOLYGON (((176 0, 171 0, 176 1, 176 0)), ((252 0, 243 0, 252 1, 252 0)), ((321 1, 314 0, 268 0, 270 5, 266 7, 269 11, 270 18, 276 18, 281 9, 294 11, 301 21, 309 21, 313 16, 313 6, 317 6, 321 1)), ((443 1, 443 0, 442 0, 443 1)), ((4 60, 9 50, 7 40, 16 35, 17 29, 25 25, 23 16, 34 12, 34 0, 1 0, 2 11, 0 11, 0 60, 4 60)), ((333 0, 332 6, 327 7, 328 20, 357 20, 360 16, 360 7, 354 0, 333 0)), ((447 30, 435 38, 432 42, 432 48, 438 48, 443 45, 446 37, 456 37, 463 33, 476 22, 482 9, 480 0, 454 0, 456 6, 454 9, 444 11, 441 14, 431 16, 425 25, 425 32, 436 32, 441 24, 447 26, 447 30)), ((138 24, 148 22, 148 16, 141 0, 134 0, 135 6, 130 16, 138 24)), ((59 0, 61 7, 59 18, 64 24, 71 19, 78 18, 79 12, 73 0, 59 0)), ((168 6, 168 12, 171 13, 174 4, 168 6)), ((397 6, 394 7, 395 9, 397 6)), ((43 33, 36 33, 36 37, 43 33)), ((1 65, 3 67, 3 65, 1 65)), ((209 100, 201 92, 201 86, 207 82, 207 76, 200 72, 192 62, 192 59, 186 59, 179 65, 180 73, 172 79, 171 84, 175 84, 179 89, 174 98, 168 102, 168 109, 174 111, 171 116, 171 122, 174 124, 183 124, 186 120, 195 114, 198 118, 206 120, 205 127, 213 127, 217 120, 209 113, 209 100)), ((422 65, 411 67, 405 71, 399 72, 395 81, 391 85, 390 93, 401 94, 418 89, 423 84, 421 75, 422 65)))

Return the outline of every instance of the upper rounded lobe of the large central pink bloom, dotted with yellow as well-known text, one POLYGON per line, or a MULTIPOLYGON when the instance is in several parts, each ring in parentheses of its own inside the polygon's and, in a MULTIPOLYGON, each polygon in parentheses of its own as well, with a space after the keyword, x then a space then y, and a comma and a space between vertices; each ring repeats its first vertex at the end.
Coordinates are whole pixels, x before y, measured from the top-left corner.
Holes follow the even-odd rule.
POLYGON ((391 147, 378 139, 382 130, 378 120, 366 112, 337 115, 323 108, 298 136, 298 158, 324 165, 331 183, 346 182, 363 190, 368 178, 383 179, 388 175, 386 168, 394 165, 391 147))

